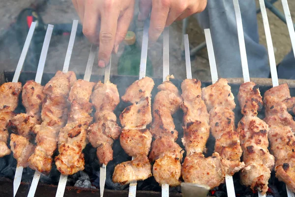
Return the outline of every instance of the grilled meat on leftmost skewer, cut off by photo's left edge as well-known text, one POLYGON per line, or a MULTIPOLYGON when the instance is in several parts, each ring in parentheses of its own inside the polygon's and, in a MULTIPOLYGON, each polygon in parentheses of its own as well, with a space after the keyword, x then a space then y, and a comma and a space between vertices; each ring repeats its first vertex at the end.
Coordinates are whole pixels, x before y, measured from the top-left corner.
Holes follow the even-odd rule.
POLYGON ((18 106, 22 84, 8 82, 0 86, 0 158, 10 154, 7 147, 8 132, 6 126, 13 117, 13 111, 18 106))

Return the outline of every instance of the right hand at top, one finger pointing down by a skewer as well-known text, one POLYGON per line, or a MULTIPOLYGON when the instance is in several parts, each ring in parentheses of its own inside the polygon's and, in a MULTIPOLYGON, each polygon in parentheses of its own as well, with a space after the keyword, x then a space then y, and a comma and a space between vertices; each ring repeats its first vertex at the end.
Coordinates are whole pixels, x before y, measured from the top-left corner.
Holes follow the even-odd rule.
POLYGON ((148 35, 152 41, 156 41, 165 27, 202 12, 206 5, 207 0, 140 0, 138 20, 146 20, 150 13, 148 35))

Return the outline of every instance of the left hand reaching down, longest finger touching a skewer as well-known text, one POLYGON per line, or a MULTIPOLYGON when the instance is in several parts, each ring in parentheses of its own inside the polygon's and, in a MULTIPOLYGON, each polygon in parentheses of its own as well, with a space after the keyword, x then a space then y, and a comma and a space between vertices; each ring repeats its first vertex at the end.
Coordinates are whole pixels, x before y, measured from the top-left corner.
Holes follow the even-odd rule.
POLYGON ((135 0, 72 0, 83 23, 83 33, 99 45, 98 66, 105 67, 112 51, 125 38, 133 18, 135 0))

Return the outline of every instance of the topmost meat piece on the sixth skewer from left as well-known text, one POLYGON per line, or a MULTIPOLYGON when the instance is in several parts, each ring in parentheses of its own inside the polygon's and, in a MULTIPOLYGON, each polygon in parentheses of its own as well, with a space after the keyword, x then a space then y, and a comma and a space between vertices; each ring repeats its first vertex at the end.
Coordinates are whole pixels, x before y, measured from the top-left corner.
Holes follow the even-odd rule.
POLYGON ((124 102, 139 102, 141 99, 150 97, 150 93, 154 86, 154 82, 149 77, 144 77, 140 80, 133 82, 122 96, 124 102))

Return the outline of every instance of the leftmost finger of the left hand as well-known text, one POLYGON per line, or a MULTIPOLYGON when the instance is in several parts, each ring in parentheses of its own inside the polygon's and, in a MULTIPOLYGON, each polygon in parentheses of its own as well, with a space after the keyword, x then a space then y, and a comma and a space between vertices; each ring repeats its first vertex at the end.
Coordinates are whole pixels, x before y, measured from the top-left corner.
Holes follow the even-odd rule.
POLYGON ((93 44, 99 43, 99 11, 93 2, 87 1, 85 4, 83 19, 83 33, 93 44))

